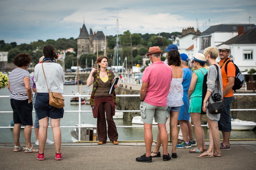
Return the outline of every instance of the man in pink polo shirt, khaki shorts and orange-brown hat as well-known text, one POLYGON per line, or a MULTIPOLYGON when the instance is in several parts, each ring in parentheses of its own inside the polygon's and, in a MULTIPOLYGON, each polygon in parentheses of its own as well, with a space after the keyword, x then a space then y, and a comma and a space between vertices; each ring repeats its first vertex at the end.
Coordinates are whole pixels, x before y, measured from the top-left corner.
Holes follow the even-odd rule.
MULTIPOLYGON (((140 115, 144 122, 144 139, 146 153, 136 158, 139 162, 152 162, 151 146, 153 142, 152 123, 158 123, 163 146, 163 160, 171 159, 167 153, 168 135, 165 127, 168 118, 167 95, 172 81, 172 69, 161 61, 162 51, 159 47, 150 47, 148 56, 153 64, 148 66, 142 76, 142 86, 140 90, 140 115)), ((160 154, 158 155, 160 157, 160 154)))

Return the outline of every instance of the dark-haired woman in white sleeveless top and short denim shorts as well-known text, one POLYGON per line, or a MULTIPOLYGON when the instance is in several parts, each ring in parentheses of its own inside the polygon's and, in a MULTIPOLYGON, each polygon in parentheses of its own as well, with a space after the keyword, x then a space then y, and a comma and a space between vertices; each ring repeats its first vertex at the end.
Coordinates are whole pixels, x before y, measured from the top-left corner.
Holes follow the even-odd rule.
MULTIPOLYGON (((170 90, 167 96, 167 107, 170 113, 169 118, 172 129, 172 158, 177 158, 176 146, 178 142, 178 118, 180 113, 180 107, 183 105, 183 70, 180 68, 181 59, 180 53, 177 50, 170 50, 168 53, 168 65, 172 68, 172 81, 170 90)), ((169 119, 168 118, 168 119, 169 119)), ((166 122, 166 126, 170 126, 170 122, 166 122)), ((152 157, 159 157, 159 148, 161 145, 160 133, 157 134, 156 147, 152 152, 152 157)))

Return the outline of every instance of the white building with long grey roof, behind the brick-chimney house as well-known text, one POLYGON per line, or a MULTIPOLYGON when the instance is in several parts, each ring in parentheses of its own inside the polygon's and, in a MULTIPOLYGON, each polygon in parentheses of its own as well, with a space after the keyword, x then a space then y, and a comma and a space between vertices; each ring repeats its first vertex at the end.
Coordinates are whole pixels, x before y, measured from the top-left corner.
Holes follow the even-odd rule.
POLYGON ((210 26, 207 30, 194 37, 194 53, 203 53, 210 46, 218 46, 238 35, 238 26, 244 26, 244 31, 255 27, 254 24, 220 24, 210 26))

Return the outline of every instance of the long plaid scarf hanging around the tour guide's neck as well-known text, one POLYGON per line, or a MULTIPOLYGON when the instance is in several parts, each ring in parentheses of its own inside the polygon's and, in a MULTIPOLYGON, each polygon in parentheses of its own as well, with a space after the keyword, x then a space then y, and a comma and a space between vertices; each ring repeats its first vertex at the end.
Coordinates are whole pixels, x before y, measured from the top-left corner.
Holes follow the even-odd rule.
MULTIPOLYGON (((112 85, 113 84, 112 75, 111 75, 111 73, 110 73, 110 71, 108 69, 106 69, 106 72, 107 72, 107 75, 108 75, 108 80, 110 81, 110 83, 112 85)), ((91 107, 94 107, 94 94, 95 94, 95 91, 96 91, 99 79, 100 79, 100 69, 97 70, 97 73, 96 73, 95 78, 94 78, 92 94, 91 94, 91 97, 90 97, 90 105, 91 105, 91 107)), ((116 106, 116 92, 115 91, 113 93, 113 98, 114 98, 114 105, 116 106)))

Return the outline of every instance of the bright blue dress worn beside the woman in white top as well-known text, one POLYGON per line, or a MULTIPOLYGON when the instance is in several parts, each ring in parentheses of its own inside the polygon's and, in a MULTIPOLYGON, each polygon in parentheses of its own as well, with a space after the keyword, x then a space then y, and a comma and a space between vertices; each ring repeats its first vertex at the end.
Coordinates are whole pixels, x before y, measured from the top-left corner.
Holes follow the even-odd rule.
POLYGON ((179 119, 178 120, 186 120, 189 121, 190 119, 190 113, 188 113, 189 109, 189 98, 188 98, 188 89, 191 83, 191 78, 192 78, 192 71, 190 68, 184 68, 183 69, 183 105, 180 108, 180 114, 179 114, 179 119))

